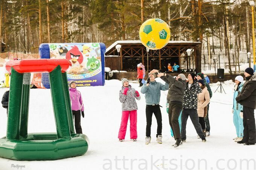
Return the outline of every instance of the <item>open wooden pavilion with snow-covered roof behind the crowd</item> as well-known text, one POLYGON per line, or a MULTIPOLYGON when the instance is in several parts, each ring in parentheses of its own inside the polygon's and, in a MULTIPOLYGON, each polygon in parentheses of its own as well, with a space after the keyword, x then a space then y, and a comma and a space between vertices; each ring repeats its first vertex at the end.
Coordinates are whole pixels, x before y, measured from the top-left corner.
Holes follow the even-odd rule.
POLYGON ((176 63, 180 66, 179 72, 201 72, 201 56, 196 54, 196 48, 200 44, 201 42, 169 41, 164 48, 147 52, 140 41, 116 41, 106 50, 105 66, 111 70, 136 71, 137 64, 142 63, 146 71, 166 71, 168 63, 176 63), (121 45, 119 53, 116 45, 121 45), (187 49, 192 51, 189 56, 187 49))

